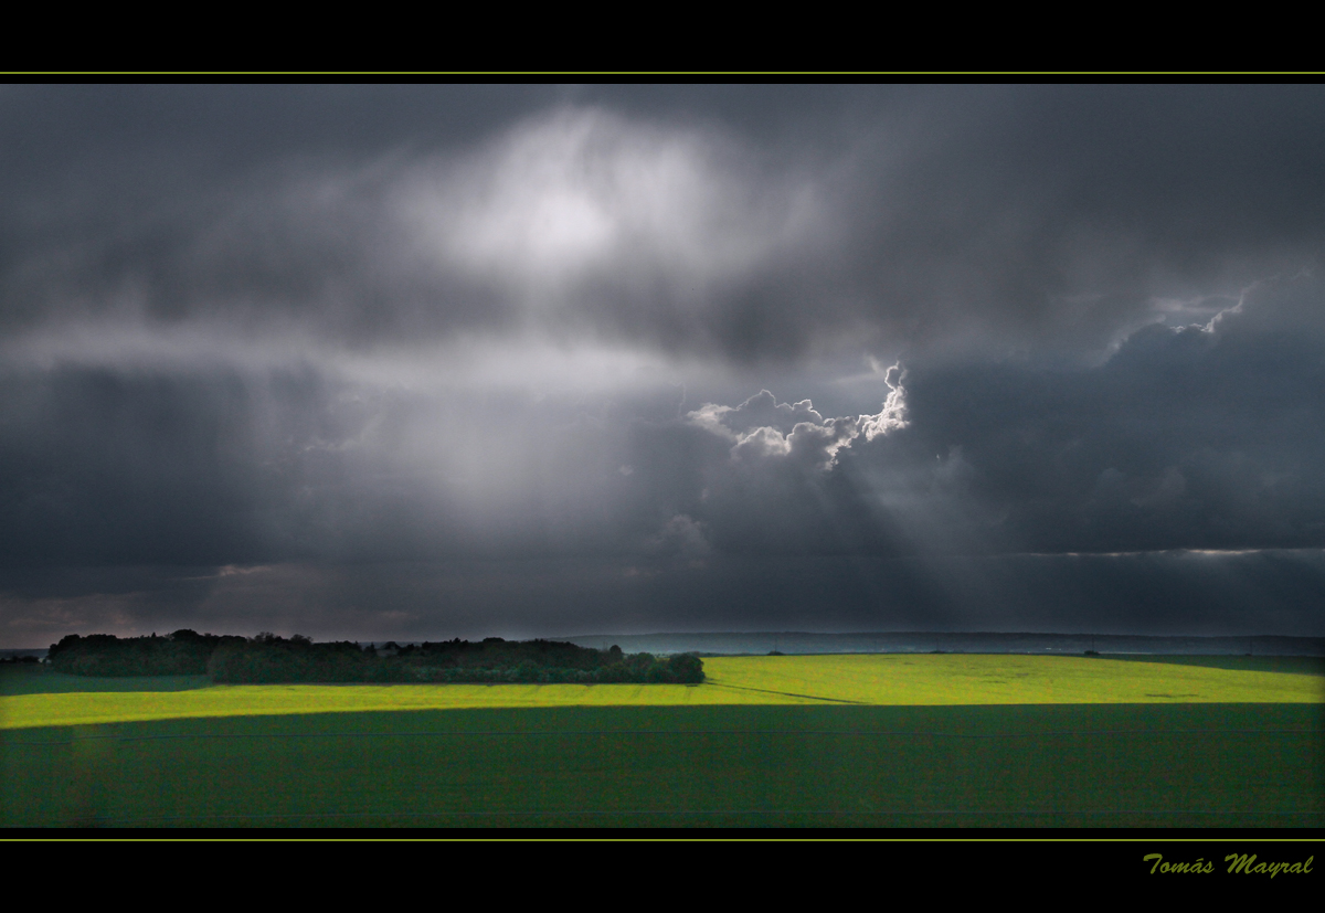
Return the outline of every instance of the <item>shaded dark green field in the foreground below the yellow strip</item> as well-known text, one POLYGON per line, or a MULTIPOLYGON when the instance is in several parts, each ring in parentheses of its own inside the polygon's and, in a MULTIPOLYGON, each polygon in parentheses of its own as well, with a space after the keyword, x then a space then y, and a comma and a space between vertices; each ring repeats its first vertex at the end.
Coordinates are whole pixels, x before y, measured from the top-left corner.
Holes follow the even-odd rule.
POLYGON ((1318 702, 521 706, 24 725, 0 731, 0 823, 1320 827, 1322 758, 1318 702))

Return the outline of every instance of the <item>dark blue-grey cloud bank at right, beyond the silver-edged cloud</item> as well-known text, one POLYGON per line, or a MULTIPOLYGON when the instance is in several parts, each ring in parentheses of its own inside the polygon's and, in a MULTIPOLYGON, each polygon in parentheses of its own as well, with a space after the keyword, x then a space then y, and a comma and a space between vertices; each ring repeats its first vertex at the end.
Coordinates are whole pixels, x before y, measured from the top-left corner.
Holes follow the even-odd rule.
POLYGON ((961 468, 999 550, 1318 547, 1321 313, 1301 277, 1207 326, 1140 330, 1098 368, 917 372, 918 447, 961 468))

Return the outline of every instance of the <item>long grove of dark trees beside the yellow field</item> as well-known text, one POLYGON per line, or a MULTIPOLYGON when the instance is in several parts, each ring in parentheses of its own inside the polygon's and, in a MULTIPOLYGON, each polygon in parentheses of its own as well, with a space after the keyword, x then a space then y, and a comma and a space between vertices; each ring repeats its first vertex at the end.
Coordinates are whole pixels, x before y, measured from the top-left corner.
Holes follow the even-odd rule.
POLYGON ((158 637, 69 635, 50 647, 60 672, 85 676, 209 674, 225 684, 274 682, 673 682, 704 681, 697 656, 625 655, 554 640, 448 640, 382 649, 301 635, 257 637, 176 631, 158 637))

